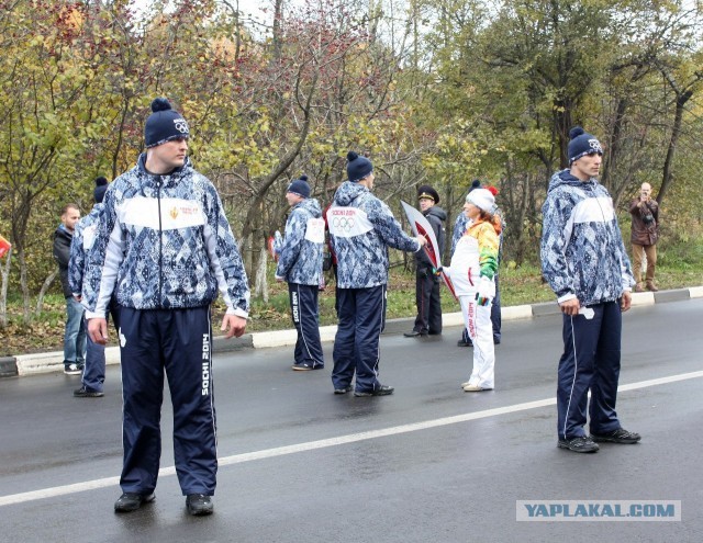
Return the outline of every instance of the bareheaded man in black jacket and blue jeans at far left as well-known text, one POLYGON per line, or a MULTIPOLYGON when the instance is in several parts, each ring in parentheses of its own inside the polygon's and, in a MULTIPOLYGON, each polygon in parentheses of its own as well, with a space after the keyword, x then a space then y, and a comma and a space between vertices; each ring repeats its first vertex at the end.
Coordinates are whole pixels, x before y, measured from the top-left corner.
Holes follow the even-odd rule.
POLYGON ((80 219, 76 204, 66 204, 62 211, 62 224, 54 233, 54 260, 58 262, 58 273, 66 298, 66 331, 64 332, 64 373, 80 375, 86 360, 86 328, 83 307, 70 291, 68 284, 68 262, 74 228, 80 219))

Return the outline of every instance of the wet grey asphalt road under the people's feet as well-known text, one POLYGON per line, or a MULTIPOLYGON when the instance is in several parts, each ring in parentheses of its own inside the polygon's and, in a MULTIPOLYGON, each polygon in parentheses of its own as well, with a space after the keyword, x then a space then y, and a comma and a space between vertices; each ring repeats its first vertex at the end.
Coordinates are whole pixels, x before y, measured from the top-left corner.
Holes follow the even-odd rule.
MULTIPOLYGON (((560 317, 504 324, 496 389, 467 394, 471 350, 384 337, 395 394, 334 396, 327 367, 292 372, 291 348, 214 363, 220 472, 212 517, 192 518, 163 412, 156 501, 115 514, 119 369, 78 399, 63 374, 0 380, 0 541, 700 542, 703 541, 703 299, 625 315, 618 412, 643 434, 596 454, 556 448, 560 317), (681 520, 518 522, 518 500, 680 500, 681 520)), ((522 507, 522 506, 521 506, 522 507)))

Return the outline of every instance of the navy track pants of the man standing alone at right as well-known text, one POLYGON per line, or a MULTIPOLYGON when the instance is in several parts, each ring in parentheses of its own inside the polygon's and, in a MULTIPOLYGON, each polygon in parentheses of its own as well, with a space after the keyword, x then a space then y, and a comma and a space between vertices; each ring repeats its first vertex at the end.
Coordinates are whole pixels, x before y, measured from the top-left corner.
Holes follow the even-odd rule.
POLYGON ((620 302, 591 305, 588 309, 593 310, 591 318, 581 314, 563 315, 563 354, 559 360, 557 387, 560 439, 585 435, 587 406, 592 433, 606 433, 621 427, 615 411, 622 335, 620 302))

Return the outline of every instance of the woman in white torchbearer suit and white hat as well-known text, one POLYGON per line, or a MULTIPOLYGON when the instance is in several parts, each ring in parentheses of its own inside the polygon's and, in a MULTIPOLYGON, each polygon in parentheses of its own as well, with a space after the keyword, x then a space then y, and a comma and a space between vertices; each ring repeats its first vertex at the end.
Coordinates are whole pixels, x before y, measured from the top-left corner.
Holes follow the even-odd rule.
POLYGON ((498 270, 501 222, 495 199, 487 189, 475 189, 466 197, 464 213, 470 223, 457 242, 449 268, 461 304, 464 323, 473 342, 473 370, 461 384, 465 392, 493 389, 495 351, 491 325, 491 304, 495 297, 493 276, 498 270))

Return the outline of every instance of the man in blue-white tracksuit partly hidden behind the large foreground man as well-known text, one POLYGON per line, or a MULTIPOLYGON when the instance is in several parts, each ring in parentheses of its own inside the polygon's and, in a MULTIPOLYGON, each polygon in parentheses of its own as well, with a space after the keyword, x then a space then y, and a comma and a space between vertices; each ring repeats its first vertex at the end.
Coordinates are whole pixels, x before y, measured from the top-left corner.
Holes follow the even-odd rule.
MULTIPOLYGON (((103 177, 96 179, 93 200, 96 204, 88 215, 76 225, 74 238, 70 242, 70 262, 68 264, 68 284, 78 302, 83 290, 83 276, 87 265, 87 254, 92 249, 96 233, 102 220, 102 200, 108 190, 108 180, 103 177)), ((116 304, 111 303, 108 313, 112 315, 115 329, 119 329, 119 316, 116 304)), ((105 346, 96 343, 87 336, 86 364, 81 376, 82 386, 74 391, 77 398, 100 398, 104 396, 103 383, 105 381, 105 346)))

